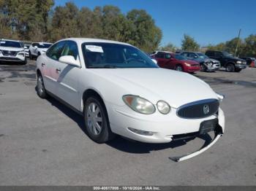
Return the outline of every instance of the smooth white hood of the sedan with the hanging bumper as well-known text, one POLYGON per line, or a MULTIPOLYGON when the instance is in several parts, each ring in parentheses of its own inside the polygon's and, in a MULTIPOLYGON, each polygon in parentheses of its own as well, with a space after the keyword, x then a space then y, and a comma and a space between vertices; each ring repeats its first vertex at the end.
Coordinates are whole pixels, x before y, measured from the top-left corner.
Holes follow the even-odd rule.
POLYGON ((173 108, 178 108, 192 101, 217 99, 217 94, 206 82, 181 71, 159 68, 92 70, 108 82, 113 82, 122 88, 123 95, 139 95, 153 104, 164 100, 173 108))

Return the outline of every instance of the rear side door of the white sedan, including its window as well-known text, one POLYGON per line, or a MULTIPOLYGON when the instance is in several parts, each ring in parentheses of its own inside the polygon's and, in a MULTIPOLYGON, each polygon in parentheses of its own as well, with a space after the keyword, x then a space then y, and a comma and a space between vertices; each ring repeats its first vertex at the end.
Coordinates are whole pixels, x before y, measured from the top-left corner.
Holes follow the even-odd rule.
POLYGON ((61 52, 64 48, 65 42, 58 42, 53 44, 50 49, 46 52, 45 63, 42 63, 42 71, 44 76, 44 83, 46 90, 56 95, 57 80, 59 77, 58 62, 61 52))

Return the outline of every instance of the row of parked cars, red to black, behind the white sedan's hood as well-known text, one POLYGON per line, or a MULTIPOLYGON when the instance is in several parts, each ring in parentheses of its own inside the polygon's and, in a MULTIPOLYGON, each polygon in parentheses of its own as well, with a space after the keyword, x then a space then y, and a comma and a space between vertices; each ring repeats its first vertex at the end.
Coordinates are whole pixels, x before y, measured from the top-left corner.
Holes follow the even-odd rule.
POLYGON ((236 58, 228 52, 214 50, 207 50, 206 54, 191 51, 176 51, 176 53, 154 51, 150 54, 150 57, 154 58, 161 68, 189 73, 195 71, 217 71, 221 67, 229 72, 239 72, 242 69, 246 69, 246 66, 255 67, 255 58, 236 58))

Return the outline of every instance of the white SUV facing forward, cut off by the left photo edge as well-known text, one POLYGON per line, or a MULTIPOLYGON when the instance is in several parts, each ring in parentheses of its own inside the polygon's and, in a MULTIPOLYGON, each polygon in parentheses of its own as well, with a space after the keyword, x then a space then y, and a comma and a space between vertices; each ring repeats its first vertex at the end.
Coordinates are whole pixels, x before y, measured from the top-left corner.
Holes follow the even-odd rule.
POLYGON ((0 39, 0 61, 26 64, 24 45, 20 41, 0 39))

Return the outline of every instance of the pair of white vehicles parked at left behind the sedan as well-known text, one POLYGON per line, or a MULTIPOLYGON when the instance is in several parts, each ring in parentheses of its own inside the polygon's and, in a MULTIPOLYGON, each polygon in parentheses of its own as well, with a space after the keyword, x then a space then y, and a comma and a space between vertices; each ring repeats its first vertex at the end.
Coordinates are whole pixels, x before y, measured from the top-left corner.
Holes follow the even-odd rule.
POLYGON ((26 64, 26 58, 37 58, 51 46, 48 42, 24 44, 12 39, 0 39, 0 61, 26 64))

